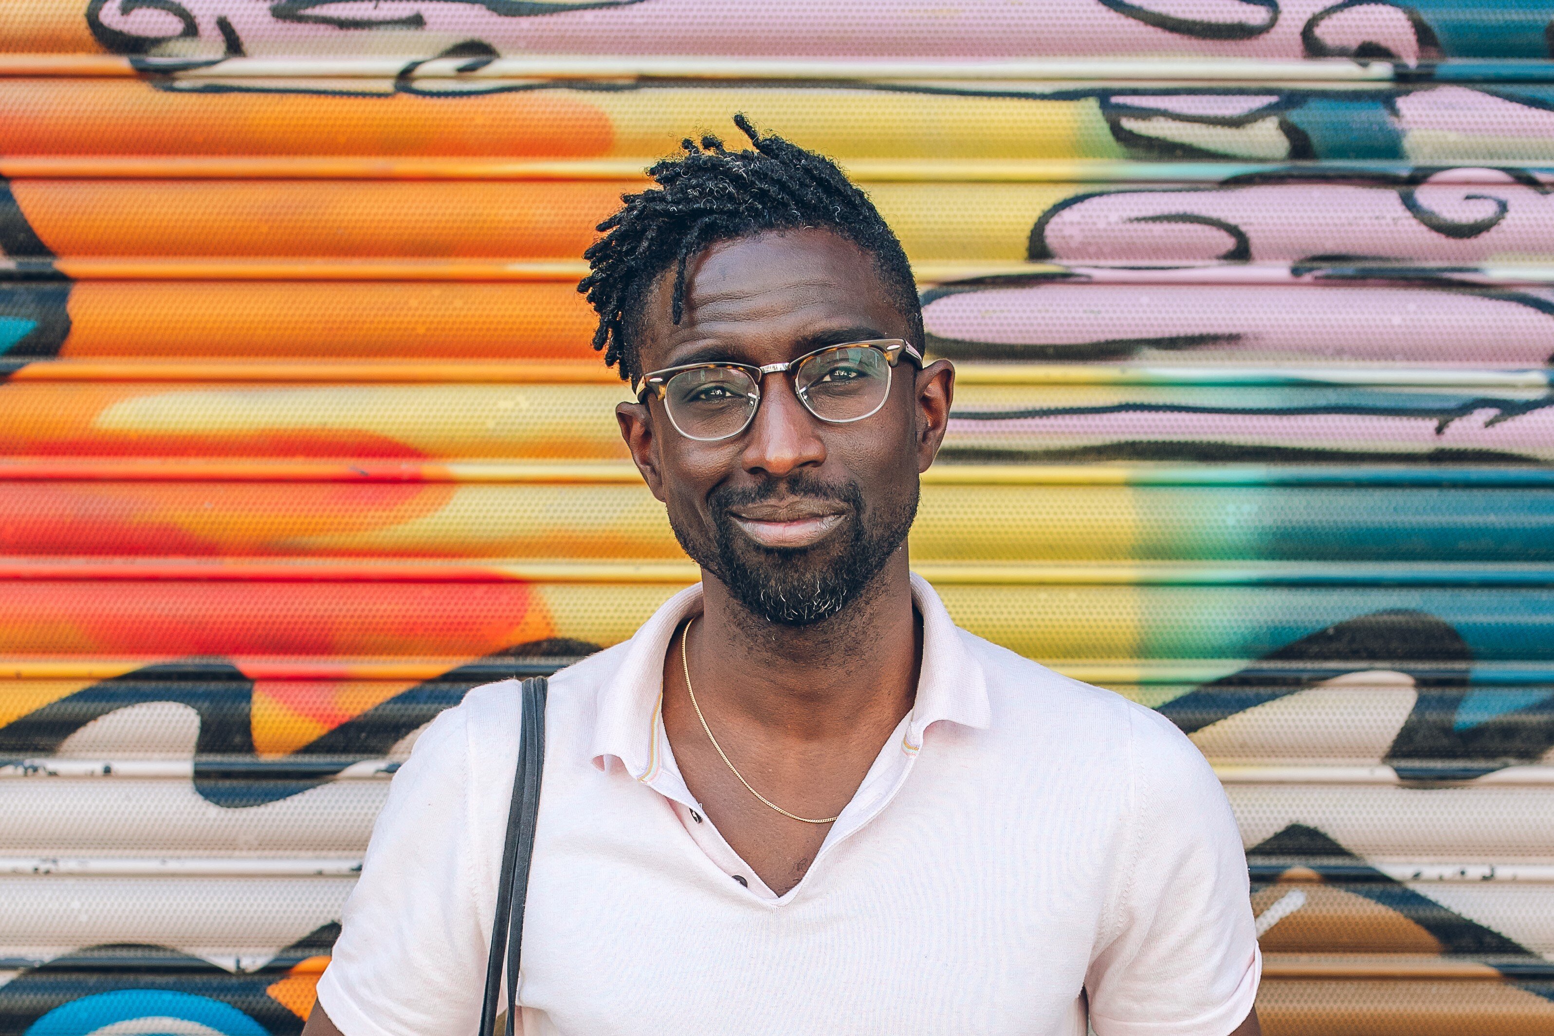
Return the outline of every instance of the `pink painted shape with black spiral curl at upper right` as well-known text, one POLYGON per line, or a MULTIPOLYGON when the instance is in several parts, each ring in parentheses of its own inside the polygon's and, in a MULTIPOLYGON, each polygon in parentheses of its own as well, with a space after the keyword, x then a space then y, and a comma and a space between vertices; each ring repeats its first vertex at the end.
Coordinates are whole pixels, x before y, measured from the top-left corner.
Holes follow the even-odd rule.
POLYGON ((1103 191, 1057 210, 1044 241, 1052 258, 1077 262, 1234 258, 1235 231, 1245 235, 1253 261, 1336 253, 1434 262, 1554 258, 1554 196, 1493 169, 1479 179, 1486 182, 1419 185, 1414 197, 1427 210, 1420 216, 1399 188, 1385 185, 1103 191), (1469 231, 1500 203, 1506 213, 1493 227, 1469 231), (1431 217, 1470 236, 1422 222, 1431 217))

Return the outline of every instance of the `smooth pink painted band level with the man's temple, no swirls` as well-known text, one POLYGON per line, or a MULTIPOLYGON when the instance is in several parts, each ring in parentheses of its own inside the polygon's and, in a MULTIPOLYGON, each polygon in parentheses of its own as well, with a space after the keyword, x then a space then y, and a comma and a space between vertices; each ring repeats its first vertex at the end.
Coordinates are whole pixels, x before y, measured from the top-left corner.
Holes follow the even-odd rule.
MULTIPOLYGON (((1524 294, 1554 304, 1548 289, 1524 294)), ((1147 349, 1152 360, 1534 367, 1554 356, 1554 315, 1504 298, 1409 287, 1058 283, 948 295, 929 303, 923 320, 934 335, 996 345, 1235 339, 1186 351, 1147 349)))

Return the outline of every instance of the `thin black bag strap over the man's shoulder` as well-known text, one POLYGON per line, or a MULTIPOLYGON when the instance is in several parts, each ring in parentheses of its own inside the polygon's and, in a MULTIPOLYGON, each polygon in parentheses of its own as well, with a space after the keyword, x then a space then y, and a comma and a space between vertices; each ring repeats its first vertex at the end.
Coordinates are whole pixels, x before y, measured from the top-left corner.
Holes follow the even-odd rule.
POLYGON ((507 1033, 517 1028, 517 961, 524 943, 524 901, 528 898, 528 862, 535 856, 535 822, 539 817, 539 781, 545 769, 545 677, 524 680, 524 722, 517 735, 517 772, 513 774, 513 805, 507 811, 507 840, 496 885, 496 921, 491 923, 491 955, 486 958, 485 1003, 480 1036, 496 1036, 497 1002, 502 999, 502 965, 507 963, 507 1033))

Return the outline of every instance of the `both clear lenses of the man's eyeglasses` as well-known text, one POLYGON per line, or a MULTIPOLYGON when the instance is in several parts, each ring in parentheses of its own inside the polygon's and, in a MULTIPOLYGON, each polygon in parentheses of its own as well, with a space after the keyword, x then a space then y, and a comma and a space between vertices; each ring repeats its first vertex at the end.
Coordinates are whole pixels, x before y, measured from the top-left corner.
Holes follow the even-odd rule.
MULTIPOLYGON (((755 416, 761 391, 738 367, 698 367, 665 384, 670 419, 693 440, 738 435, 755 416)), ((861 421, 884 405, 890 363, 866 345, 842 345, 807 357, 794 370, 794 388, 810 413, 830 422, 861 421)))

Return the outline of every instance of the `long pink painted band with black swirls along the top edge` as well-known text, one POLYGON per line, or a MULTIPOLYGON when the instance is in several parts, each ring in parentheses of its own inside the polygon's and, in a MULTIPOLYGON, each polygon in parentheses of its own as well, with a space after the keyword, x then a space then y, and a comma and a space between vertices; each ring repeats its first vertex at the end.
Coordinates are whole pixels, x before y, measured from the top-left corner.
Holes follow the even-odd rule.
MULTIPOLYGON (((278 3, 180 0, 199 25, 200 53, 225 50, 216 19, 225 17, 250 56, 416 54, 451 42, 483 40, 503 54, 727 54, 752 57, 1043 57, 1043 56, 1302 56, 1301 30, 1332 0, 1284 0, 1277 22, 1249 39, 1204 39, 1167 31, 1097 0, 640 0, 584 8, 555 3, 555 14, 499 14, 465 0, 340 0, 300 8, 306 22, 278 19, 278 3), (578 9, 567 9, 578 8, 578 9), (354 22, 370 28, 325 23, 354 22), (412 28, 416 22, 424 28, 412 28)), ((85 0, 81 0, 85 8, 85 0)), ((1242 0, 1136 0, 1136 8, 1211 26, 1259 26, 1263 6, 1242 0)), ((169 17, 131 0, 109 0, 104 25, 132 36, 176 33, 169 17), (126 8, 129 8, 126 11, 126 8)), ((1344 19, 1344 39, 1366 33, 1395 43, 1395 19, 1369 8, 1344 19), (1355 28, 1372 26, 1372 28, 1355 28)), ((1327 31, 1318 26, 1318 33, 1327 31)), ((1211 36, 1214 33, 1209 33, 1211 36)), ((179 40, 188 53, 190 40, 179 40)), ((1403 47, 1403 50, 1408 50, 1403 47)), ((168 51, 174 53, 174 51, 168 51)))

